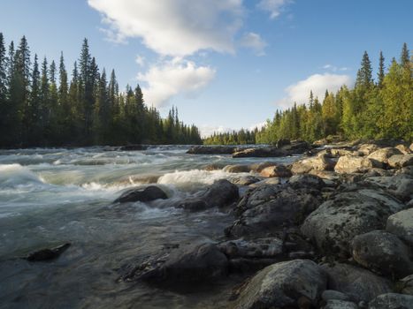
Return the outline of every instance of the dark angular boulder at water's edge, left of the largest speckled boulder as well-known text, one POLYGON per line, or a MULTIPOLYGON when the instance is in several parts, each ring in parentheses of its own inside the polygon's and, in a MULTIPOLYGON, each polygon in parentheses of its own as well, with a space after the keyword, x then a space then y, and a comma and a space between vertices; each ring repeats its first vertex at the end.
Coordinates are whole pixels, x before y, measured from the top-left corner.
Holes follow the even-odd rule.
POLYGON ((298 225, 321 203, 320 192, 296 185, 261 185, 246 192, 234 209, 236 220, 227 236, 266 235, 286 225, 298 225))

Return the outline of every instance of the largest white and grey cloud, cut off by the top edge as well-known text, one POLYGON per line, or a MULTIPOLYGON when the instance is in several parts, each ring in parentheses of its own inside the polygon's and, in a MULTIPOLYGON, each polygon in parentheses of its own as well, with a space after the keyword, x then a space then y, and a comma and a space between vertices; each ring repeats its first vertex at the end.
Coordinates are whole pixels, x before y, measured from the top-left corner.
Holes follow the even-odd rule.
POLYGON ((141 38, 160 55, 187 56, 203 49, 233 52, 242 26, 242 0, 88 0, 100 11, 112 41, 141 38))

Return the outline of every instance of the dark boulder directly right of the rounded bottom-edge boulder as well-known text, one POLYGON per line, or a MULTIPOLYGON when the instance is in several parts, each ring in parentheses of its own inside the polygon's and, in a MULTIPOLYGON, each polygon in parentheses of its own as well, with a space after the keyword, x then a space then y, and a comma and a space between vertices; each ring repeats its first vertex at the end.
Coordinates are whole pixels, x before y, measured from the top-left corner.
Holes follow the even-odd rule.
POLYGON ((328 274, 328 289, 339 290, 356 303, 369 302, 380 294, 392 291, 390 281, 367 269, 342 263, 323 265, 322 268, 328 274))

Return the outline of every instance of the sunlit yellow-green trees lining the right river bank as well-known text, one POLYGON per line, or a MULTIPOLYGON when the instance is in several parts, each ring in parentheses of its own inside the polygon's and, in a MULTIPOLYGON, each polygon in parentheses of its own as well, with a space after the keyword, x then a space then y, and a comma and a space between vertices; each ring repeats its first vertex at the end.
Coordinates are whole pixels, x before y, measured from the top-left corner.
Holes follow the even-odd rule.
MULTIPOLYGON (((322 101, 310 92, 309 102, 277 110, 262 130, 253 133, 252 139, 260 144, 275 144, 278 139, 312 142, 328 135, 413 140, 413 57, 409 57, 407 44, 402 46, 400 60, 393 58, 388 69, 380 52, 376 79, 369 55, 364 52, 354 87, 342 86, 335 94, 325 91, 322 101)), ((214 134, 205 141, 232 144, 237 134, 214 134)))

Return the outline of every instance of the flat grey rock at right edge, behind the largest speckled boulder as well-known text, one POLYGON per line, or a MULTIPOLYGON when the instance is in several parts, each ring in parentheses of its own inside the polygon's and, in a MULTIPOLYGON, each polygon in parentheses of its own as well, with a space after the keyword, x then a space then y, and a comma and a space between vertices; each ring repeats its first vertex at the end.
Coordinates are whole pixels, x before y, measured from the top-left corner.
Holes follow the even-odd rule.
POLYGON ((387 193, 400 200, 411 200, 413 198, 413 177, 409 175, 394 175, 392 177, 369 177, 364 183, 378 185, 387 193))

